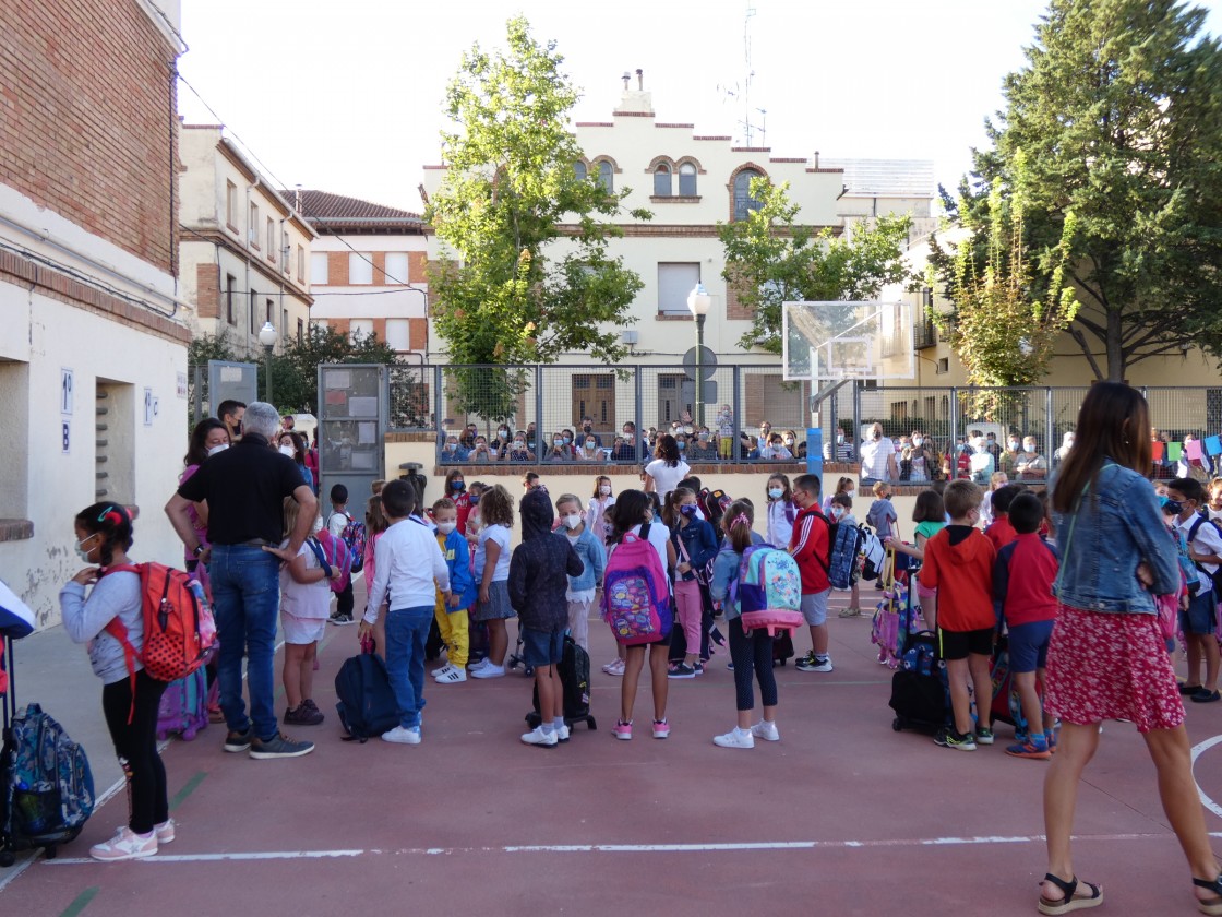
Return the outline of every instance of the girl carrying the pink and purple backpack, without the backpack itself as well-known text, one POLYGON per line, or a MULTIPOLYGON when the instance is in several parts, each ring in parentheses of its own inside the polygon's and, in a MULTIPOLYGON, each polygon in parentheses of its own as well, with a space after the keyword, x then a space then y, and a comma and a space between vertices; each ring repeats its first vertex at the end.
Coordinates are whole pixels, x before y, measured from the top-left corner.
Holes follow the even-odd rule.
MULTIPOLYGON (((620 719, 616 721, 612 734, 620 740, 632 738, 632 710, 637 703, 637 686, 640 681, 640 670, 645 666, 645 654, 649 654, 649 672, 654 688, 654 738, 666 738, 671 734, 670 723, 666 721, 666 657, 670 643, 671 610, 670 597, 666 586, 666 571, 675 566, 675 545, 671 544, 666 526, 655 523, 653 499, 643 490, 624 490, 620 494, 615 506, 611 507, 611 521, 613 529, 610 538, 606 567, 606 581, 604 584, 604 605, 611 604, 616 598, 616 550, 627 543, 629 537, 633 540, 648 542, 657 553, 659 565, 655 575, 659 582, 649 583, 651 592, 662 597, 660 610, 665 614, 661 632, 655 639, 644 643, 626 644, 620 642, 620 652, 623 654, 624 670, 623 685, 620 690, 620 719)), ((655 608, 655 611, 659 610, 655 608)), ((618 637, 617 637, 618 639, 618 637)))

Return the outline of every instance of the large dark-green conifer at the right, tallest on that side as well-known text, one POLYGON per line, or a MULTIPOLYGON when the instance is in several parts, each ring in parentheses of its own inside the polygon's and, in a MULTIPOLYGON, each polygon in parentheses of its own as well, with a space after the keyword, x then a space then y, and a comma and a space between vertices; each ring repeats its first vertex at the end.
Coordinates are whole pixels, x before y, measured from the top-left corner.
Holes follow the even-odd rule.
MULTIPOLYGON (((1014 289, 1034 311, 1063 269, 1099 379, 1183 345, 1222 355, 1222 54, 1204 22, 1174 0, 1052 0, 960 186, 981 269, 995 187, 1022 199, 1014 289)), ((953 298, 954 258, 935 264, 953 298)))

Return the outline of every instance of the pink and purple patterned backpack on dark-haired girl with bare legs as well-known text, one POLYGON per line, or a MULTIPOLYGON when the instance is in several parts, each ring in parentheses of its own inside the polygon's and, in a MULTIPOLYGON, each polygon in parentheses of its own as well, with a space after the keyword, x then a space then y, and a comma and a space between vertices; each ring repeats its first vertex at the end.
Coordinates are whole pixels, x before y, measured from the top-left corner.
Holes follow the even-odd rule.
POLYGON ((602 577, 602 620, 626 647, 654 643, 671 631, 671 593, 649 526, 615 547, 602 577))

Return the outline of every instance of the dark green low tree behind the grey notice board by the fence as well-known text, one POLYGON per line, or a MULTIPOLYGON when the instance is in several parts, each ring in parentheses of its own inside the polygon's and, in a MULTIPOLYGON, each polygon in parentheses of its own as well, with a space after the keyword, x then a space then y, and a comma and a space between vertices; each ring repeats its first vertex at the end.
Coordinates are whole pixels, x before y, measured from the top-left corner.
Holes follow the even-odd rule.
MULTIPOLYGON (((306 335, 290 340, 285 352, 271 357, 273 396, 282 413, 318 413, 318 367, 321 363, 391 364, 398 355, 376 334, 336 331, 310 324, 306 335)), ((266 391, 266 361, 259 363, 259 392, 266 391)))

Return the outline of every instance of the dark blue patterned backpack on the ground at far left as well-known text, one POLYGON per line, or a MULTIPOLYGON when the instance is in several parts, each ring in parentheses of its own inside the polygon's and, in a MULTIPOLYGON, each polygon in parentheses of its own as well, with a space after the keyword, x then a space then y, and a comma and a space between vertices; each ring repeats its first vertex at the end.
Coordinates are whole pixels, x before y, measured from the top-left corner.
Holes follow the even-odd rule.
POLYGON ((10 719, 9 703, 0 759, 0 850, 46 847, 53 855, 93 814, 89 759, 38 704, 10 719))

